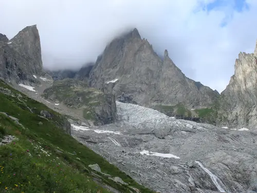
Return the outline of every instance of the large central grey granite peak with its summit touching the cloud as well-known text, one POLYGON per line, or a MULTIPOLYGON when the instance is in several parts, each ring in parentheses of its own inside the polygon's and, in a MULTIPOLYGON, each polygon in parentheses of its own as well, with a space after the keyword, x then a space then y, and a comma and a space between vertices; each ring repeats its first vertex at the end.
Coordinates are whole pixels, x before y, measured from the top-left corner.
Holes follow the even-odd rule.
POLYGON ((146 107, 156 104, 208 107, 218 93, 187 78, 164 51, 161 59, 152 45, 141 39, 137 29, 116 38, 106 46, 89 74, 90 85, 101 88, 116 82, 117 98, 146 107))

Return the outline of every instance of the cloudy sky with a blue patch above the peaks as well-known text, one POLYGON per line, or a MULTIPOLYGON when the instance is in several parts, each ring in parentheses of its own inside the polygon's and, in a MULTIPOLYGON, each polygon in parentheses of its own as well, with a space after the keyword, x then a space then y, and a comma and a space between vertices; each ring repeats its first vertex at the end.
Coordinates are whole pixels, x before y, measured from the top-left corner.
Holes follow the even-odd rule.
POLYGON ((240 51, 257 39, 257 0, 0 0, 0 33, 36 24, 44 67, 94 62, 118 34, 136 27, 189 78, 222 92, 240 51))

